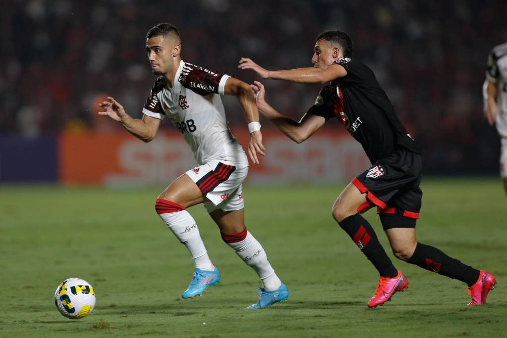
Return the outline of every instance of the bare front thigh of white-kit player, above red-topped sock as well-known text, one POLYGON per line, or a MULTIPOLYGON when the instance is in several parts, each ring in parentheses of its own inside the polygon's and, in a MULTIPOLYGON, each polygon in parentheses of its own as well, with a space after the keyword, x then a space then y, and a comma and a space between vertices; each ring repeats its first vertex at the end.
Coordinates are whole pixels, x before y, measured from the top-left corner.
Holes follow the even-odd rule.
POLYGON ((159 198, 183 205, 185 208, 206 201, 199 187, 187 174, 176 178, 159 195, 159 198))

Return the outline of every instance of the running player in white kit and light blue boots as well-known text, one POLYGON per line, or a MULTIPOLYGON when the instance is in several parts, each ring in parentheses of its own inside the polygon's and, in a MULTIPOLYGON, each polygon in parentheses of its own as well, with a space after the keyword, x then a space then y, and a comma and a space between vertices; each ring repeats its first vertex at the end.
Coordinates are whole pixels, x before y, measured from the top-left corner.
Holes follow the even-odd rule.
POLYGON ((122 105, 108 97, 100 106, 132 135, 149 142, 160 123, 168 117, 190 145, 198 166, 176 178, 158 197, 155 209, 167 227, 190 251, 195 272, 183 298, 201 295, 220 282, 220 273, 212 264, 194 218, 186 208, 203 203, 220 228, 222 239, 259 275, 256 304, 247 309, 271 306, 286 300, 287 287, 271 267, 261 244, 246 230, 241 184, 248 173, 243 148, 228 127, 220 95, 235 95, 243 108, 250 143, 248 155, 259 163, 264 155, 259 111, 250 86, 225 74, 184 62, 177 28, 161 23, 148 31, 146 50, 155 81, 140 120, 130 117, 122 105), (220 94, 220 95, 216 95, 220 94))

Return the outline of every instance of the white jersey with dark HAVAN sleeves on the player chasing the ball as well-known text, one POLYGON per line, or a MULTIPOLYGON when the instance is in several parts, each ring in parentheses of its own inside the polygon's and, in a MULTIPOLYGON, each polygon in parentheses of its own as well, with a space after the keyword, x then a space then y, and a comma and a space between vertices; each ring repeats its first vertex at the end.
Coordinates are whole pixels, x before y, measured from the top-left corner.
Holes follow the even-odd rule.
POLYGON ((142 113, 160 120, 167 116, 190 145, 199 165, 219 160, 248 166, 243 148, 229 129, 220 97, 227 79, 228 75, 182 60, 174 86, 169 88, 164 77, 159 77, 142 113))

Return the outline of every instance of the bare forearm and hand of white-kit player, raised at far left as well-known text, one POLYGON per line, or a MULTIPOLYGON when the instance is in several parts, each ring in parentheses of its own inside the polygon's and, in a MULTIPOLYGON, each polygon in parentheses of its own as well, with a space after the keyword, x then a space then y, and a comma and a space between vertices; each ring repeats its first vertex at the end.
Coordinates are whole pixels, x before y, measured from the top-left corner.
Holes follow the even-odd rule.
POLYGON ((123 106, 113 97, 108 96, 107 101, 99 104, 104 111, 99 111, 99 115, 106 115, 113 120, 120 122, 129 133, 143 140, 150 142, 157 135, 161 120, 144 115, 142 120, 133 119, 125 112, 123 106))

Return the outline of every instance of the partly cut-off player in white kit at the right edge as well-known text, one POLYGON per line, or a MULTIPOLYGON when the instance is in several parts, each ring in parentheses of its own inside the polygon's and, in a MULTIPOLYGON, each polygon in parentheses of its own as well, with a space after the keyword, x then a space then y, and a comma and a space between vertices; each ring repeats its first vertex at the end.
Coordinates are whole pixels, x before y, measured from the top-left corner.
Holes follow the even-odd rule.
POLYGON ((496 123, 500 135, 500 176, 507 193, 507 43, 494 47, 488 56, 483 95, 484 115, 490 125, 496 123))

